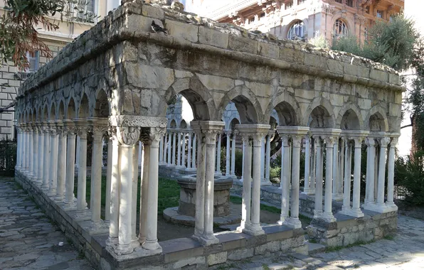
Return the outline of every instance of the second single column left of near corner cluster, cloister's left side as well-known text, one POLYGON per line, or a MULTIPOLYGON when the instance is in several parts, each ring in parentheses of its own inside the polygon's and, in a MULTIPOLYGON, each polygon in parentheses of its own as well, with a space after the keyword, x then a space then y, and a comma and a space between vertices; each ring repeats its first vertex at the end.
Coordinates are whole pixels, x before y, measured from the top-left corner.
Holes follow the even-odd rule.
MULTIPOLYGON (((83 215, 82 211, 87 209, 85 200, 87 186, 87 131, 88 123, 83 119, 74 120, 77 131, 77 153, 78 153, 78 190, 77 190, 77 211, 78 215, 83 215), (79 143, 78 143, 79 141, 79 143), (79 146, 79 148, 78 148, 79 146)), ((94 152, 94 149, 93 149, 94 152)), ((94 193, 94 190, 92 190, 94 193)), ((91 193, 91 194, 92 194, 91 193)), ((91 205, 92 207, 92 205, 91 205)))

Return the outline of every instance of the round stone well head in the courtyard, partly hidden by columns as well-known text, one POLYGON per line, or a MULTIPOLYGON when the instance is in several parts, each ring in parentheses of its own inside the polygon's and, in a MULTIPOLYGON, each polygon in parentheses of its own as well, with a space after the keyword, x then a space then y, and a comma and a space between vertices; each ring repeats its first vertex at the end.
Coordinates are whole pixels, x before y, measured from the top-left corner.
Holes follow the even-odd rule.
MULTIPOLYGON (((184 177, 178 180, 180 185, 179 214, 194 217, 196 212, 196 178, 184 177)), ((224 217, 230 215, 230 188, 233 186, 231 178, 216 178, 213 186, 213 216, 224 217)))

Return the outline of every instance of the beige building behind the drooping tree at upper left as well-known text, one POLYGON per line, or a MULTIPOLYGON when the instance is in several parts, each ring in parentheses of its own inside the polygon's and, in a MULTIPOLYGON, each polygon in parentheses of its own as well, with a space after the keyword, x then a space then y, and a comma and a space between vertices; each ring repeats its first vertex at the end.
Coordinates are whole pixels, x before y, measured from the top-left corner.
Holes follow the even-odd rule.
MULTIPOLYGON (((117 8, 120 5, 120 0, 88 0, 88 5, 85 7, 85 14, 92 16, 80 15, 75 13, 75 21, 60 22, 60 28, 55 31, 46 31, 41 28, 38 30, 39 37, 48 45, 48 48, 53 53, 53 57, 58 54, 66 43, 73 41, 84 31, 87 31, 92 26, 100 21, 107 12, 117 8)), ((4 0, 0 0, 0 15, 4 13, 4 0)), ((51 20, 58 20, 58 16, 49 17, 51 20)), ((10 104, 18 92, 18 87, 31 73, 36 72, 38 68, 48 62, 49 59, 41 56, 38 52, 33 55, 27 55, 30 68, 27 70, 18 70, 16 66, 10 62, 2 62, 0 65, 0 106, 4 107, 10 104)), ((11 108, 12 111, 14 108, 11 108)), ((14 130, 14 112, 4 112, 0 114, 0 139, 13 139, 16 136, 14 130)))

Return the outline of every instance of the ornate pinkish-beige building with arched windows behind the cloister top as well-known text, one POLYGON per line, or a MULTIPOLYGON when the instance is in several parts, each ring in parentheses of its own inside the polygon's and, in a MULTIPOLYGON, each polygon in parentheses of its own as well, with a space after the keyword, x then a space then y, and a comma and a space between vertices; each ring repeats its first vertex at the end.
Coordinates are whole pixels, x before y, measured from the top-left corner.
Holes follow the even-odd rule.
POLYGON ((248 30, 307 41, 324 35, 367 38, 378 18, 390 20, 403 9, 403 0, 233 0, 186 1, 187 11, 248 30))

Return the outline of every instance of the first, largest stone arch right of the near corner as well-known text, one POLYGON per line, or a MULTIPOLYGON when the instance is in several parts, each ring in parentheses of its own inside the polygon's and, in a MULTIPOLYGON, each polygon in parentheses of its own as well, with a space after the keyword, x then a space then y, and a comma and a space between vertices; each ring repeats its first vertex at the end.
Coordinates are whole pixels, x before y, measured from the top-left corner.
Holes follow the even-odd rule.
MULTIPOLYGON (((211 120, 215 114, 213 98, 197 77, 185 77, 176 80, 166 92, 166 104, 169 104, 169 101, 177 94, 183 96, 189 102, 194 120, 211 120)), ((166 107, 164 110, 166 111, 166 107)))

